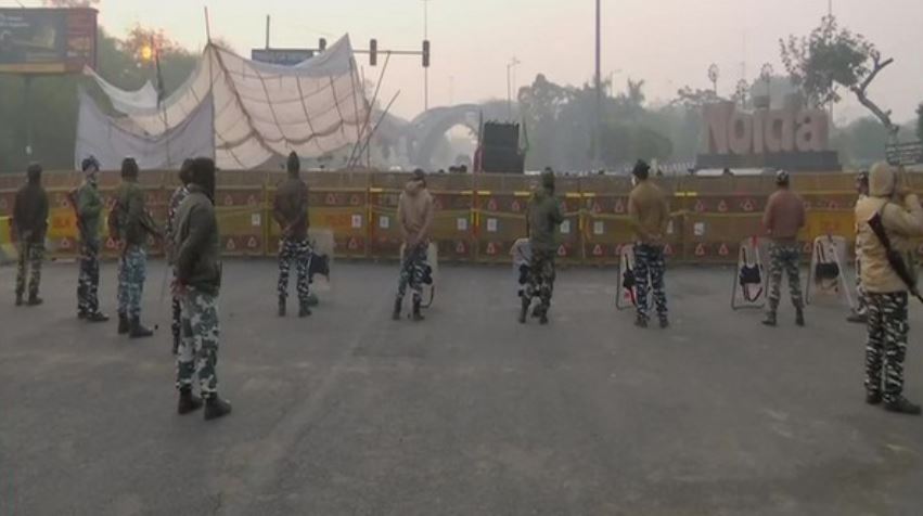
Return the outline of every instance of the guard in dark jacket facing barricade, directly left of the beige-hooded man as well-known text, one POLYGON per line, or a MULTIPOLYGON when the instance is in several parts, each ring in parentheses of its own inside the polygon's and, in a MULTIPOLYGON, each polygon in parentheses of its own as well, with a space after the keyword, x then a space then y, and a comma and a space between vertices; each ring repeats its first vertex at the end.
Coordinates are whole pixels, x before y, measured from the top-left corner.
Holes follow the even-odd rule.
POLYGON ((279 241, 279 317, 285 317, 285 300, 289 297, 289 274, 292 262, 298 273, 298 317, 311 314, 308 307, 310 284, 308 266, 311 258, 311 246, 308 244, 308 185, 298 176, 302 163, 294 152, 289 155, 285 165, 289 179, 279 184, 275 190, 275 201, 272 214, 282 238, 279 241))

